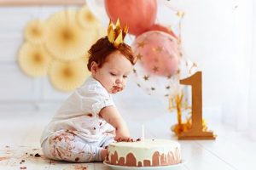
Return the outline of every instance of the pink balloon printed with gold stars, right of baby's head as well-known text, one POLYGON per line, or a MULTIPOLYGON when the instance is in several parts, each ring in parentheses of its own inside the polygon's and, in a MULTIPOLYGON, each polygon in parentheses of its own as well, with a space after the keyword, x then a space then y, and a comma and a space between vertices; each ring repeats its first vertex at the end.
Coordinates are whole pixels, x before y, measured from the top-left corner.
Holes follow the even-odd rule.
POLYGON ((176 73, 180 52, 174 37, 162 31, 148 31, 131 46, 148 73, 164 77, 176 73))

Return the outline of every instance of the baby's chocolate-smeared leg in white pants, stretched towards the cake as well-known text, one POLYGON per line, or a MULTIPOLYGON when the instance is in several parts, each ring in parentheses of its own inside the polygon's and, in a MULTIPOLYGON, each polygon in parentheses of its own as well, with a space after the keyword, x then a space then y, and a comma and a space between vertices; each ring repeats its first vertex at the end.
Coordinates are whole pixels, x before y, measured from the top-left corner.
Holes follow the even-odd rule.
POLYGON ((44 155, 57 161, 102 161, 101 147, 86 143, 72 131, 59 131, 49 136, 43 144, 44 155))

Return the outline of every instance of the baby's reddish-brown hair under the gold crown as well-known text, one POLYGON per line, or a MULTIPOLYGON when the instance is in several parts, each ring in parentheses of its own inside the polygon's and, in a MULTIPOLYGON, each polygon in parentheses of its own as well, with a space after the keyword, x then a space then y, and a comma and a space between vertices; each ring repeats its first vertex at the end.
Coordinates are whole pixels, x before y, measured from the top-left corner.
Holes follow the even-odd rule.
POLYGON ((90 71, 90 65, 93 61, 95 61, 96 64, 101 68, 108 55, 112 54, 115 51, 119 51, 125 56, 126 59, 129 59, 131 61, 132 65, 135 65, 137 59, 132 53, 131 47, 123 42, 119 44, 119 48, 115 48, 113 46, 113 43, 109 42, 108 37, 106 36, 99 39, 95 44, 91 46, 90 50, 88 51, 88 70, 90 71))

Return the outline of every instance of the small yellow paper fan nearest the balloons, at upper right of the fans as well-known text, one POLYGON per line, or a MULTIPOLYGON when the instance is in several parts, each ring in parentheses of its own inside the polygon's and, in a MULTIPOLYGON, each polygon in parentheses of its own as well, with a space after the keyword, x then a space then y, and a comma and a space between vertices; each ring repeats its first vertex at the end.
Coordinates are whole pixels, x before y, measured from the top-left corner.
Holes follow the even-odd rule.
POLYGON ((79 25, 84 29, 96 30, 101 27, 101 23, 91 14, 90 9, 84 5, 78 12, 79 25))

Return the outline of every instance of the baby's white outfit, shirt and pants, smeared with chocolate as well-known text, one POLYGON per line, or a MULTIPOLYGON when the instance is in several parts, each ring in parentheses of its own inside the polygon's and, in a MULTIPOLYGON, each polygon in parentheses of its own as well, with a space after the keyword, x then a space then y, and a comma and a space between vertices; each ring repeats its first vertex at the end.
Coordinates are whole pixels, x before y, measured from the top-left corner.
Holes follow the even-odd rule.
POLYGON ((44 156, 59 161, 102 161, 101 150, 112 143, 114 128, 99 116, 113 99, 95 78, 84 84, 61 105, 40 139, 44 156))

